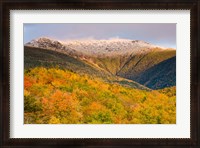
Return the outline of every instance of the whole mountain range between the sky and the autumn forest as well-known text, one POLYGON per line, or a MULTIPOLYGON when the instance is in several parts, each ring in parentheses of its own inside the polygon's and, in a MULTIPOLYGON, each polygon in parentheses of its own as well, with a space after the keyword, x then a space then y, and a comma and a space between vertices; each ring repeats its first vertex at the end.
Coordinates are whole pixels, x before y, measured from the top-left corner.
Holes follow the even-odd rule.
POLYGON ((42 37, 25 44, 25 68, 56 65, 139 89, 176 85, 176 50, 141 40, 42 37))

